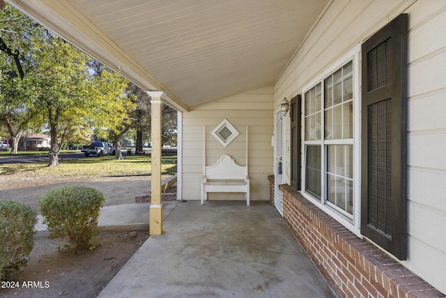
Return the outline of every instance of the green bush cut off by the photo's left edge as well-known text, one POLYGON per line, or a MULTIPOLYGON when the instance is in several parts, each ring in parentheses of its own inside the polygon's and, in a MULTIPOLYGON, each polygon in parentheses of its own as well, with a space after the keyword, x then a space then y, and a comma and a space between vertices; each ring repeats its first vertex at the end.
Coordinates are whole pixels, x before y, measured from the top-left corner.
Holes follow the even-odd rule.
POLYGON ((0 281, 26 265, 34 246, 36 211, 20 202, 0 200, 0 281))

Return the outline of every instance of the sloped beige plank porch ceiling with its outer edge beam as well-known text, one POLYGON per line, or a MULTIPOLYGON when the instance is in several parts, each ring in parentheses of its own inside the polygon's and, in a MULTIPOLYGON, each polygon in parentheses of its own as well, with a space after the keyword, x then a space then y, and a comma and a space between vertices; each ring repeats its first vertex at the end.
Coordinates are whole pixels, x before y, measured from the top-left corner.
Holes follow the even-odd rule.
POLYGON ((169 104, 270 86, 328 0, 8 0, 169 104))

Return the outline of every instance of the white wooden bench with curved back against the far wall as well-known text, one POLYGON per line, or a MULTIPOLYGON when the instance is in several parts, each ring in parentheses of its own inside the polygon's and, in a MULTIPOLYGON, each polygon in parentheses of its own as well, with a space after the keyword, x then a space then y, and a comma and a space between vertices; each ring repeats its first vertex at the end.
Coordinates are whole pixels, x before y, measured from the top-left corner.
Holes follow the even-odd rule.
POLYGON ((231 156, 224 154, 213 165, 203 167, 201 178, 201 204, 208 200, 208 193, 245 193, 249 206, 248 166, 238 165, 231 156))

